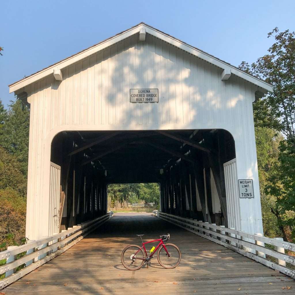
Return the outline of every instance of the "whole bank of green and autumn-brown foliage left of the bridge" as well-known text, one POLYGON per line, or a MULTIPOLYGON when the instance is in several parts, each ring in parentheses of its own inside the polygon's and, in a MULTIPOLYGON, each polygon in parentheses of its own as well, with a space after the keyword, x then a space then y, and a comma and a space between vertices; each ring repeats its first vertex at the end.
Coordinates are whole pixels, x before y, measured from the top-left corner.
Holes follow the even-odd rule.
POLYGON ((25 242, 29 110, 0 101, 0 251, 25 242))

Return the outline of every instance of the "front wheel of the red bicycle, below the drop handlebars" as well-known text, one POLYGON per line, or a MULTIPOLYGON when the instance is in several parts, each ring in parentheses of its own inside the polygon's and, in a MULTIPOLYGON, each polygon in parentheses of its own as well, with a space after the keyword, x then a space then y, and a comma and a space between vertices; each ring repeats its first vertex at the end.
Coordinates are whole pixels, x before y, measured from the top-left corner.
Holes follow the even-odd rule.
POLYGON ((168 253, 162 246, 157 254, 158 262, 160 263, 160 265, 164 268, 174 268, 178 266, 181 260, 181 253, 178 247, 174 244, 166 244, 165 247, 168 253))

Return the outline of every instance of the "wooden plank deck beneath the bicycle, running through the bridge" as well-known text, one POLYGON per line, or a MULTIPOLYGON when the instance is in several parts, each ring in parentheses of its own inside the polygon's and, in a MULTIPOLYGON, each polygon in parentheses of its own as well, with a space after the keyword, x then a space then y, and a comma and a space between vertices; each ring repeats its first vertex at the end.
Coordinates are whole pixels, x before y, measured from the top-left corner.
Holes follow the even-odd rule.
POLYGON ((117 213, 64 254, 2 290, 10 294, 295 294, 295 282, 240 254, 205 240, 149 213, 117 213), (126 270, 123 248, 170 233, 182 260, 164 269, 126 270), (291 289, 281 289, 282 287, 291 289))

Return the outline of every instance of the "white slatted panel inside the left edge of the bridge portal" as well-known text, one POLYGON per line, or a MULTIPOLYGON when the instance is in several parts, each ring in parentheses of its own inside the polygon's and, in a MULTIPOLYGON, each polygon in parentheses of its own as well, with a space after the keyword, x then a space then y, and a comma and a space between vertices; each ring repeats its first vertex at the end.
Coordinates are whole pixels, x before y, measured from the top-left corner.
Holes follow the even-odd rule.
POLYGON ((49 235, 59 232, 60 166, 50 162, 49 235))

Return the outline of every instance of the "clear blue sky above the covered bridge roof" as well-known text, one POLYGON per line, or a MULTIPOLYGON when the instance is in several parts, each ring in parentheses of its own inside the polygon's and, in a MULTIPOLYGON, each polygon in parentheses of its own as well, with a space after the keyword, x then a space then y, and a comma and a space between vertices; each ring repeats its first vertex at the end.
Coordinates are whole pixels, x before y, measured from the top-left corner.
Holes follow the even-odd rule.
POLYGON ((267 53, 274 27, 295 30, 295 1, 1 1, 0 99, 8 84, 140 22, 232 65, 267 53))

